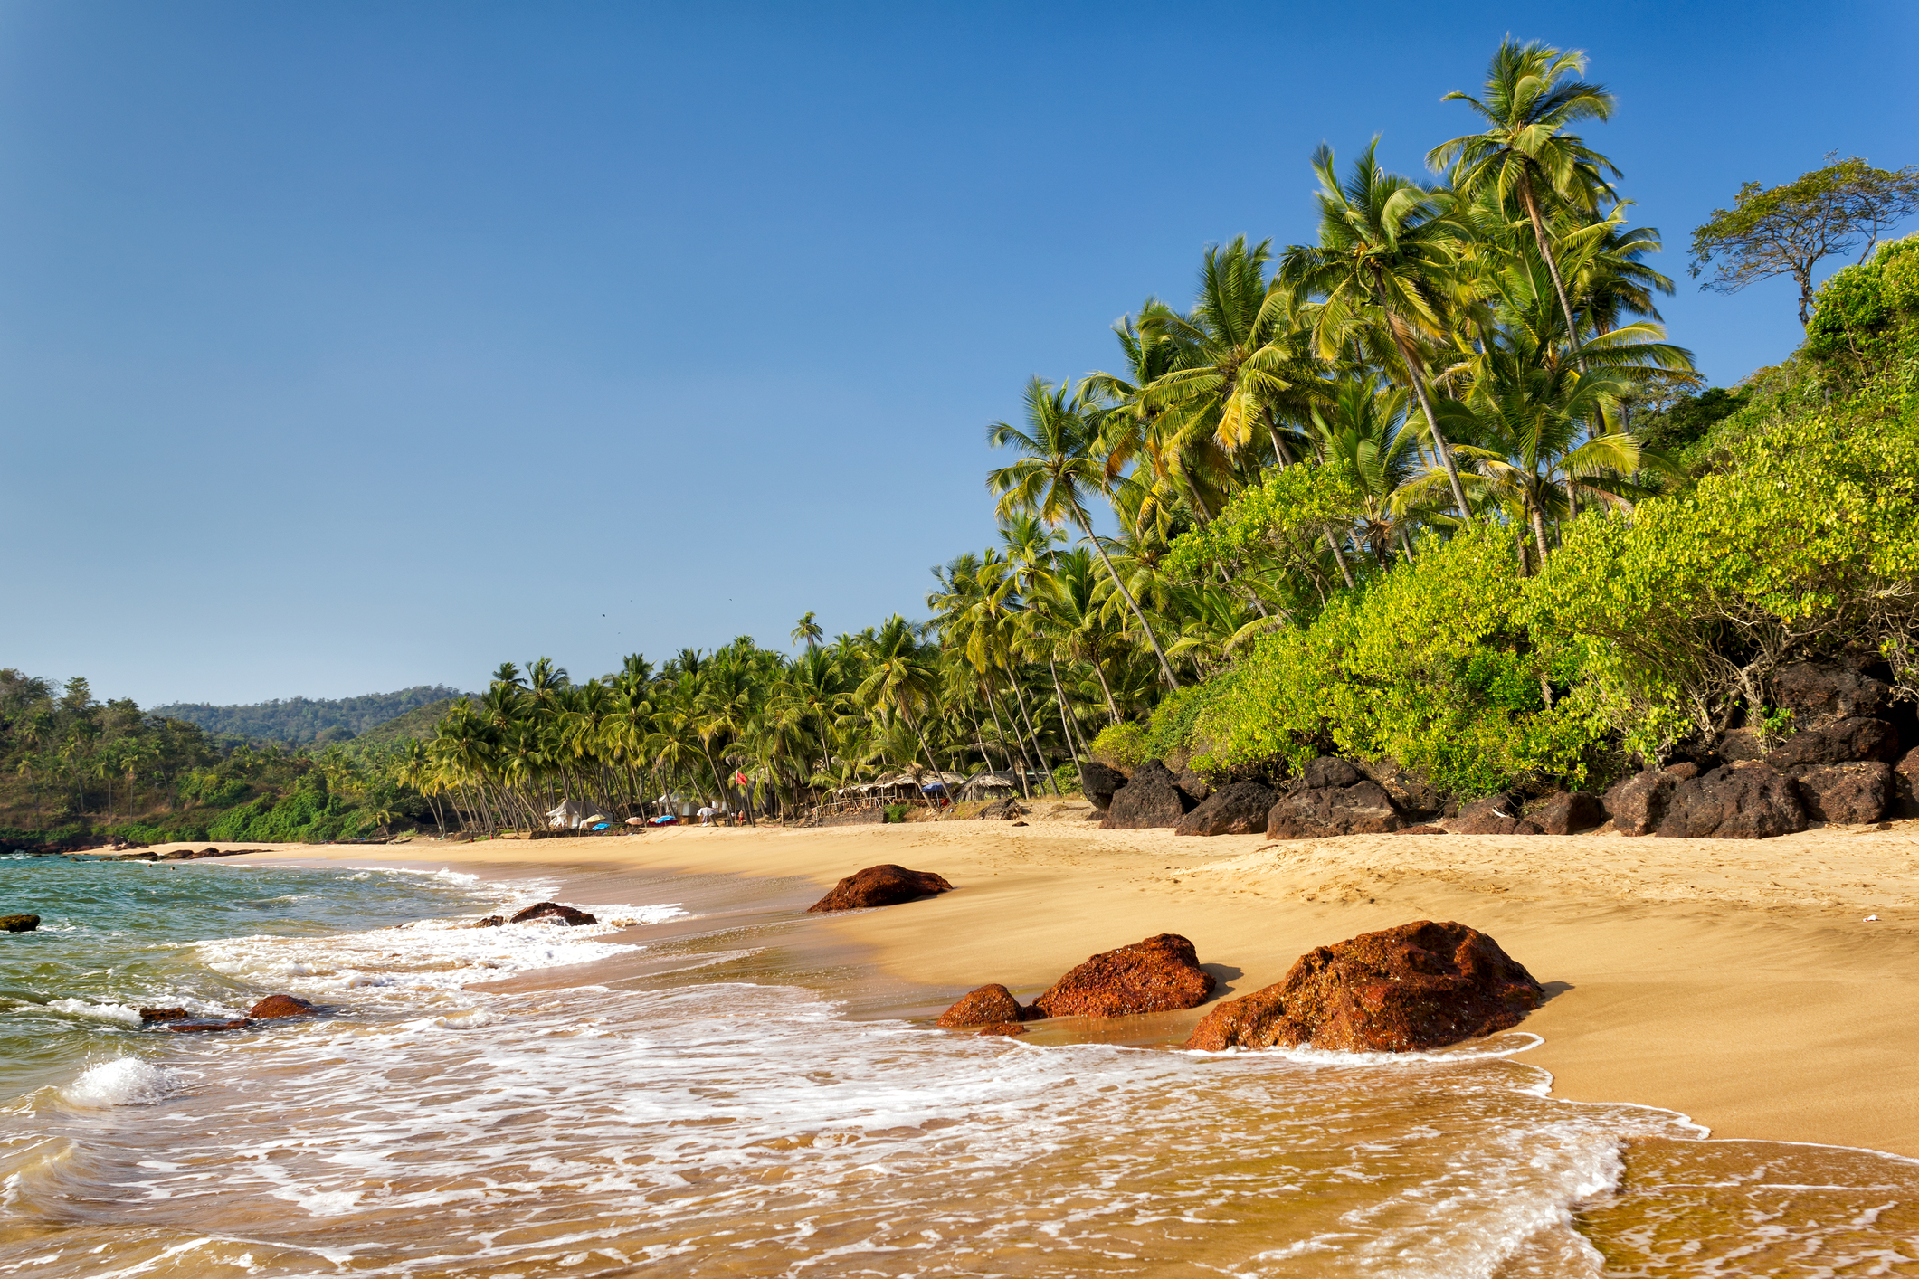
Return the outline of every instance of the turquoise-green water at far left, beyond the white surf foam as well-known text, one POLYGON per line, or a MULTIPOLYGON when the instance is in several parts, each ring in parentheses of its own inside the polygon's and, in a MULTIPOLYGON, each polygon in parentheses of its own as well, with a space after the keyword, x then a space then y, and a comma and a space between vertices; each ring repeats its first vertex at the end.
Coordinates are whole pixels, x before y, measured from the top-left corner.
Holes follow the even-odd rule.
POLYGON ((499 895, 407 871, 0 857, 0 915, 40 917, 38 932, 0 934, 0 1099, 157 1051, 142 1007, 240 1016, 272 993, 211 966, 198 942, 359 934, 499 895))

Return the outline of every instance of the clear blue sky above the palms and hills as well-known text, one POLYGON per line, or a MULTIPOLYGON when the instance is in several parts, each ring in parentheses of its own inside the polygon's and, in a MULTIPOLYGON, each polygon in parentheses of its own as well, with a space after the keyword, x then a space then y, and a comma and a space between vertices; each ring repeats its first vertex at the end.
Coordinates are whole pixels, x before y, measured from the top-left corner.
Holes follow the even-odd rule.
POLYGON ((1792 293, 1689 230, 1919 161, 1915 13, 0 0, 0 665, 251 702, 923 614, 1029 374, 1311 238, 1320 140, 1422 173, 1508 31, 1618 92, 1737 380, 1792 293))

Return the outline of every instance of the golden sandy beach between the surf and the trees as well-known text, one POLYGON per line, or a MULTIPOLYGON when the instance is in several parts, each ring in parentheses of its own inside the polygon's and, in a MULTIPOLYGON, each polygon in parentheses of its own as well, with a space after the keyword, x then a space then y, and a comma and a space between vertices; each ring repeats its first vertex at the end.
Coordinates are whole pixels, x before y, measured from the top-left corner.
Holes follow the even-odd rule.
POLYGON ((1232 997, 1276 982, 1313 945, 1455 919, 1547 984, 1549 1003, 1522 1026, 1545 1043, 1524 1058, 1552 1072, 1554 1095, 1666 1106, 1716 1137, 1919 1158, 1919 823, 1764 842, 1274 844, 1098 830, 1086 813, 1067 803, 1027 826, 695 826, 263 855, 518 869, 562 882, 626 869, 793 876, 821 890, 892 861, 936 871, 956 892, 817 926, 931 999, 984 982, 1031 997, 1088 953, 1155 932, 1192 938, 1232 997))

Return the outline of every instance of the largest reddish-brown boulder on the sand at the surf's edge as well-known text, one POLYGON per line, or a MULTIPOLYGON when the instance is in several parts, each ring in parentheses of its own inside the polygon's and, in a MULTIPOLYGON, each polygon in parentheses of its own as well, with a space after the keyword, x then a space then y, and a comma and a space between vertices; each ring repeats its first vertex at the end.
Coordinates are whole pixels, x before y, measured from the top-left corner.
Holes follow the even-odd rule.
POLYGON ((1186 1047, 1412 1053, 1510 1030, 1543 997, 1478 928, 1420 920, 1301 955, 1284 982, 1207 1012, 1186 1047))

